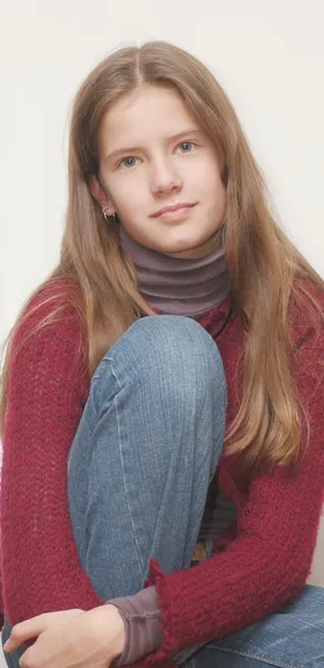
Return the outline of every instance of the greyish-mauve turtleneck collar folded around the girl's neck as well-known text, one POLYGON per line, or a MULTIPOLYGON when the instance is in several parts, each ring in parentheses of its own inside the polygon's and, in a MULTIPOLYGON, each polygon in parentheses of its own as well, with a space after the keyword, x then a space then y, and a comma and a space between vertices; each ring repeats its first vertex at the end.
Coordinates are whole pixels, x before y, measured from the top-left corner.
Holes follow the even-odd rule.
POLYGON ((224 248, 205 257, 169 257, 138 244, 119 226, 120 245, 134 262, 138 289, 161 313, 200 320, 229 295, 224 248))

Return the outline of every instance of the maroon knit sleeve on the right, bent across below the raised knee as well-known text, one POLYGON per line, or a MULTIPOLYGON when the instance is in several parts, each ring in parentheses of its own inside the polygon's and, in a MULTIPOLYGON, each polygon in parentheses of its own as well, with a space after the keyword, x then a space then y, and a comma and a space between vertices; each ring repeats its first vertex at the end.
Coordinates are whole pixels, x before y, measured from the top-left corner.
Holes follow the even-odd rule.
POLYGON ((151 560, 147 584, 157 589, 164 639, 149 665, 281 610, 306 582, 324 500, 323 330, 315 342, 307 328, 298 348, 295 380, 311 430, 306 445, 304 422, 300 465, 255 478, 224 552, 170 574, 151 560))

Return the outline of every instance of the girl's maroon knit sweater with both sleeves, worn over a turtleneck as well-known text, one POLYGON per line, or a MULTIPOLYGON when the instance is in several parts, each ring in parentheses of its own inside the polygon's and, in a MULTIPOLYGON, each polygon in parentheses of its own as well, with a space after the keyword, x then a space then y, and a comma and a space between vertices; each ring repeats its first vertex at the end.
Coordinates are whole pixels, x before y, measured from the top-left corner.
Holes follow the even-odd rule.
MULTIPOLYGON (((70 284, 62 285, 72 294, 70 284)), ((323 293, 314 292, 324 308, 323 293)), ((13 340, 1 490, 3 609, 11 625, 102 602, 80 567, 67 502, 67 456, 89 393, 85 332, 75 307, 66 306, 63 317, 20 348, 30 328, 63 303, 55 294, 53 286, 45 289, 46 304, 32 313, 29 308, 13 340)), ((39 302, 40 296, 33 306, 39 302)), ((226 299, 202 326, 215 335, 228 308, 226 299)), ((277 468, 251 482, 240 456, 222 456, 219 484, 238 509, 235 531, 215 543, 212 559, 192 569, 165 574, 151 560, 147 584, 157 589, 164 639, 157 652, 136 666, 173 666, 169 657, 179 650, 279 610, 305 584, 324 497, 324 336, 323 330, 315 336, 307 307, 298 317, 293 311, 292 320, 293 377, 310 419, 308 446, 303 422, 303 456, 294 473, 277 468)), ((217 336, 227 381, 227 426, 242 397, 243 337, 234 312, 217 336)))

